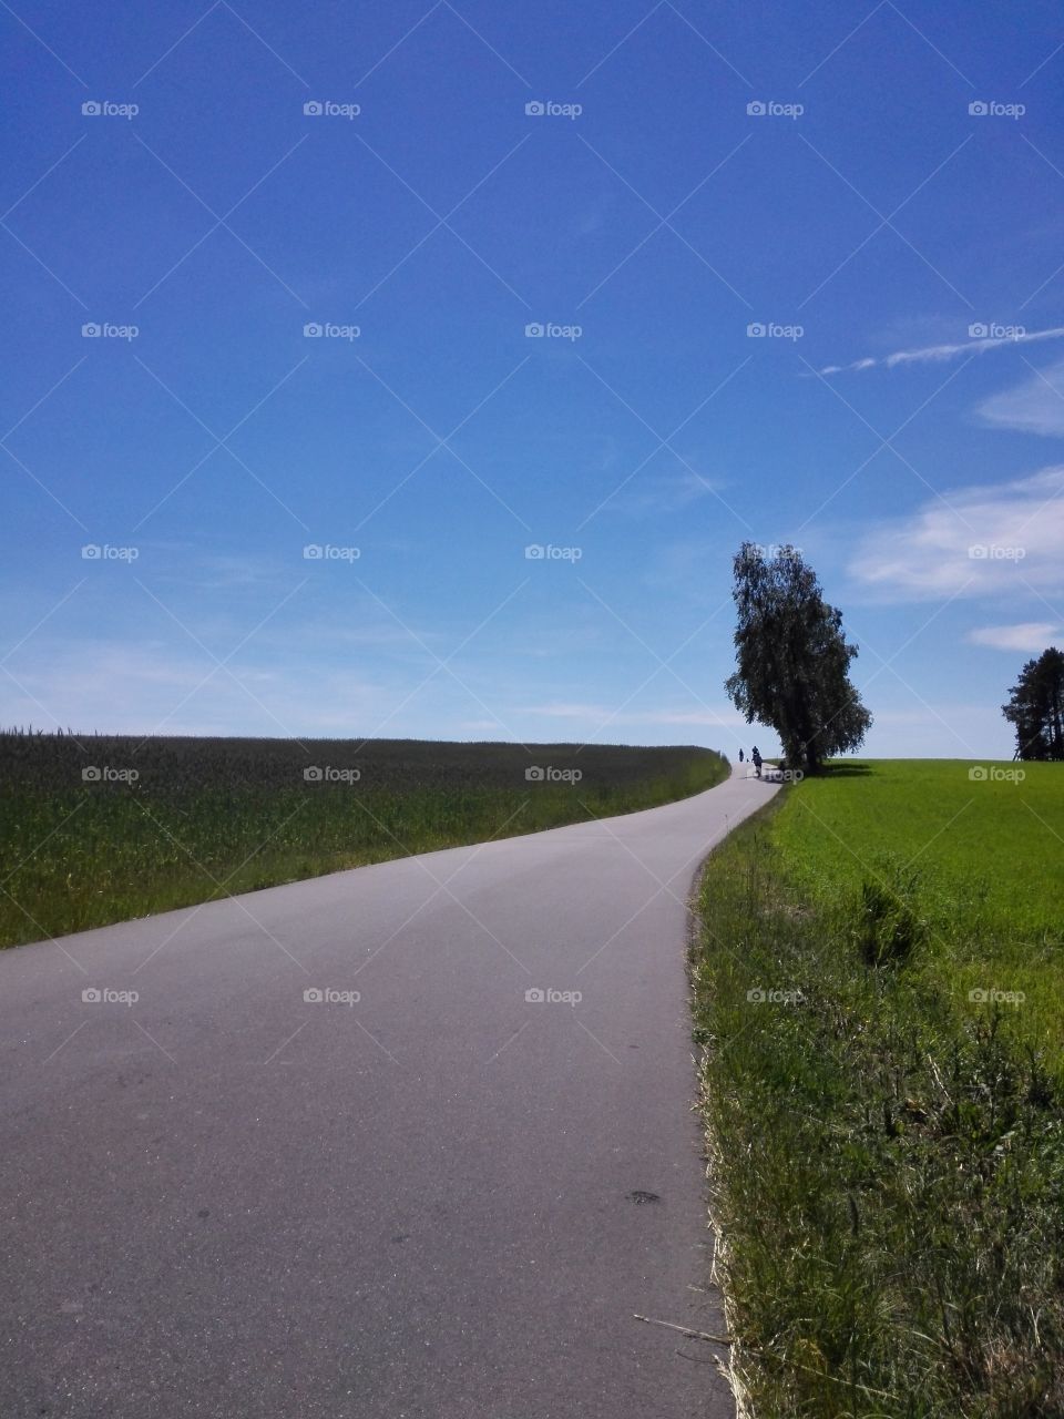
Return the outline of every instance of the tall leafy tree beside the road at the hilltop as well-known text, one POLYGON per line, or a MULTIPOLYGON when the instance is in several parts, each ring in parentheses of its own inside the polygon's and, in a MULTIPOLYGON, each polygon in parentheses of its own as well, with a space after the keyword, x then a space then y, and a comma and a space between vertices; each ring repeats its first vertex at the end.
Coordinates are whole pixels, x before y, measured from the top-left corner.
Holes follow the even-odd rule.
POLYGON ((766 556, 753 542, 743 542, 733 569, 736 670, 725 688, 746 722, 772 725, 787 763, 810 772, 860 748, 872 717, 850 684, 857 646, 816 572, 794 548, 766 556))

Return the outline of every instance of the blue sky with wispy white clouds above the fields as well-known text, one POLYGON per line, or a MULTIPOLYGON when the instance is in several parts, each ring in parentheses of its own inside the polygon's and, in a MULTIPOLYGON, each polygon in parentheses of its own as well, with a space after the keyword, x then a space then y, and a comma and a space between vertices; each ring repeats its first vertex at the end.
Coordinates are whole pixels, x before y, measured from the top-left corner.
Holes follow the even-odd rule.
POLYGON ((767 751, 750 539, 843 607, 870 753, 1010 756, 1064 636, 1057 6, 0 23, 4 724, 767 751))

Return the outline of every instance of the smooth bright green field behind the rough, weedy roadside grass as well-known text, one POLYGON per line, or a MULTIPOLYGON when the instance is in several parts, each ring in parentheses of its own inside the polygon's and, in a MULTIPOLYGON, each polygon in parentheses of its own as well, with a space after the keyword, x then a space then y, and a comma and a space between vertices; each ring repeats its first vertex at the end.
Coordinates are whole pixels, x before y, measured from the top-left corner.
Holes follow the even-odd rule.
POLYGON ((864 881, 911 897, 922 956, 958 1009, 985 1013, 972 990, 1023 993, 1010 1027, 1064 1069, 1064 775, 977 768, 987 778, 951 759, 840 765, 802 785, 775 840, 821 911, 841 902, 846 914, 864 881))

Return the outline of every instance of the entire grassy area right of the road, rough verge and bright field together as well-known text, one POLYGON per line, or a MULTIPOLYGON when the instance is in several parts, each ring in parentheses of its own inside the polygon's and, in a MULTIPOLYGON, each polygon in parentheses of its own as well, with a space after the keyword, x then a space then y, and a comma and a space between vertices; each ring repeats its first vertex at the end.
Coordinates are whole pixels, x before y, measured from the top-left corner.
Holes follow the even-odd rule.
POLYGON ((709 861, 702 1104, 759 1419, 1064 1413, 1063 888, 1040 868, 1064 795, 1031 768, 1012 797, 960 765, 807 780, 709 861))

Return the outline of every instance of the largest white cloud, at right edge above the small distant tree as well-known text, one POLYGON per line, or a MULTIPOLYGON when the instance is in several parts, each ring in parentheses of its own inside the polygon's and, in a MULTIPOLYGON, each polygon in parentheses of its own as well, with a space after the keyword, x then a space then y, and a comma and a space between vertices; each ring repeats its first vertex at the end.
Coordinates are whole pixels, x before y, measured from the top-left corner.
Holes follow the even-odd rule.
POLYGON ((894 600, 1017 596, 1064 582, 1064 467, 982 488, 956 488, 878 526, 848 563, 894 600))

